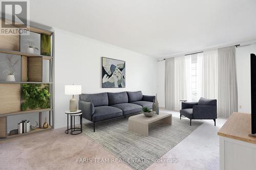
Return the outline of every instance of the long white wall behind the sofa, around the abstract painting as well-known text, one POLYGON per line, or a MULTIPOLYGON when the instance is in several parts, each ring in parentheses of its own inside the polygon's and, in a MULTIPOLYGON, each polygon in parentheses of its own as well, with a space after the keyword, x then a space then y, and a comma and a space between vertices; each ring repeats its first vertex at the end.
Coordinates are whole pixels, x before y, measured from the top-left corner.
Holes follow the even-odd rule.
MULTIPOLYGON (((141 90, 156 93, 157 60, 139 53, 82 37, 67 31, 55 30, 55 128, 67 126, 65 110, 71 96, 64 94, 65 85, 82 85, 82 93, 141 90), (124 60, 125 88, 101 88, 101 57, 124 60)), ((75 96, 78 100, 78 95, 75 96)))

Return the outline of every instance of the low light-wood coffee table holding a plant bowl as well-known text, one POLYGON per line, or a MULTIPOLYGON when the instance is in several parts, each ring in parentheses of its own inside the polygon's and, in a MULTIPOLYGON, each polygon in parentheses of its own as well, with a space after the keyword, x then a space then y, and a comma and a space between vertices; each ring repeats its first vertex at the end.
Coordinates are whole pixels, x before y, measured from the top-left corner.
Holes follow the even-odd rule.
POLYGON ((172 114, 159 113, 153 117, 146 117, 144 114, 131 116, 128 119, 128 130, 143 136, 148 136, 148 124, 153 122, 161 122, 163 124, 172 125, 172 114))

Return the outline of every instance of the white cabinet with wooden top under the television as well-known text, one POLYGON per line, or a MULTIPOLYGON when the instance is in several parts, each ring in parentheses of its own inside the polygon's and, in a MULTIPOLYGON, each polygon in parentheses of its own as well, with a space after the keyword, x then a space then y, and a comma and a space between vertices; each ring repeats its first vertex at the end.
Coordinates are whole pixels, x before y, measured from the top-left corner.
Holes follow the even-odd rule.
POLYGON ((256 167, 256 137, 251 133, 251 114, 234 112, 218 132, 220 136, 220 170, 256 167))

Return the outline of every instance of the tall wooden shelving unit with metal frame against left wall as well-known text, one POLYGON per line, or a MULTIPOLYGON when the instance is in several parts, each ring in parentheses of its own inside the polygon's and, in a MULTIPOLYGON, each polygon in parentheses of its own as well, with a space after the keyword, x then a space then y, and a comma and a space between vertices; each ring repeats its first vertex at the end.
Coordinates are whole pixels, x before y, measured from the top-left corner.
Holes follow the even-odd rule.
MULTIPOLYGON (((2 22, 2 18, 0 18, 0 22, 2 22)), ((22 41, 20 39, 21 36, 24 35, 0 35, 0 53, 20 56, 20 80, 16 82, 0 81, 0 140, 39 133, 52 130, 54 128, 54 32, 33 26, 29 26, 28 30, 33 32, 33 34, 38 34, 40 37, 40 45, 42 42, 42 34, 51 37, 51 55, 46 56, 48 53, 46 55, 38 55, 20 52, 20 46, 22 45, 22 41), (49 61, 49 75, 47 75, 49 80, 47 81, 43 79, 45 76, 43 71, 43 64, 45 60, 47 60, 47 62, 49 61), (47 88, 49 85, 49 108, 22 110, 22 104, 24 102, 22 92, 22 88, 24 87, 23 84, 42 84, 39 86, 42 87, 47 85, 47 88), (42 112, 49 112, 49 127, 47 129, 41 128, 43 123, 41 121, 42 112), (7 130, 8 117, 23 114, 38 114, 39 127, 28 133, 9 135, 7 130)), ((39 52, 42 54, 41 46, 39 52)), ((17 123, 20 121, 22 120, 17 120, 17 123)))

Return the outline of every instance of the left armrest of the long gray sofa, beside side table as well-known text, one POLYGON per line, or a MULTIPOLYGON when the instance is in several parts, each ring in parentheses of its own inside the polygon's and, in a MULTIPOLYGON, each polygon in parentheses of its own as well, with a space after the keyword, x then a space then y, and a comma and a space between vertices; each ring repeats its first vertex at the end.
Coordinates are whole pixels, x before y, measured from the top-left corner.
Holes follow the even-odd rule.
POLYGON ((92 115, 94 114, 94 105, 91 102, 78 102, 78 108, 82 111, 82 117, 88 120, 92 120, 92 115))

